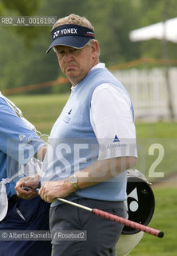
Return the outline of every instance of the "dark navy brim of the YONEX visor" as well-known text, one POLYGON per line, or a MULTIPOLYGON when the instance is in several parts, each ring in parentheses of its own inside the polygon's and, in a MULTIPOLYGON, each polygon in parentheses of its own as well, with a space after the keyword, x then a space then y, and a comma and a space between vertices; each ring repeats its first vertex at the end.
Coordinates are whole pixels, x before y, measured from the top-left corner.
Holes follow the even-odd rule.
POLYGON ((77 37, 77 36, 66 36, 62 38, 56 38, 51 45, 49 46, 48 50, 46 53, 49 53, 49 50, 51 50, 54 46, 69 46, 73 48, 83 48, 90 38, 85 38, 85 37, 77 37))

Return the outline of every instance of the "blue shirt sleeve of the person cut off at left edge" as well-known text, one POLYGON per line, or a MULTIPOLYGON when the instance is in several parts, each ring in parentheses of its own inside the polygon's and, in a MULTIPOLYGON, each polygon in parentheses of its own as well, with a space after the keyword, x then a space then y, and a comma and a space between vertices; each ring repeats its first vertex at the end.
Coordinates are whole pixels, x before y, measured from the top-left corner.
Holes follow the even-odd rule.
POLYGON ((0 98, 0 142, 0 150, 20 164, 26 164, 45 145, 3 98, 0 98))

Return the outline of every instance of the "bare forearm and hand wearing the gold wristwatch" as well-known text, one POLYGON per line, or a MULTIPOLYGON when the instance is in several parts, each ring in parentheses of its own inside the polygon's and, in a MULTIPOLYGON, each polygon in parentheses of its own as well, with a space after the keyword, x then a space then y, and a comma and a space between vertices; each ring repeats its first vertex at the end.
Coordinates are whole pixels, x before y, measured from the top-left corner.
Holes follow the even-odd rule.
MULTIPOLYGON (((98 160, 91 166, 75 173, 80 189, 94 186, 100 182, 108 181, 116 175, 136 166, 135 157, 120 157, 105 160, 98 160)), ((69 177, 70 178, 70 177, 69 177)), ((61 181, 44 182, 39 190, 39 195, 46 202, 54 202, 57 198, 65 198, 75 192, 69 182, 69 178, 61 181)))

